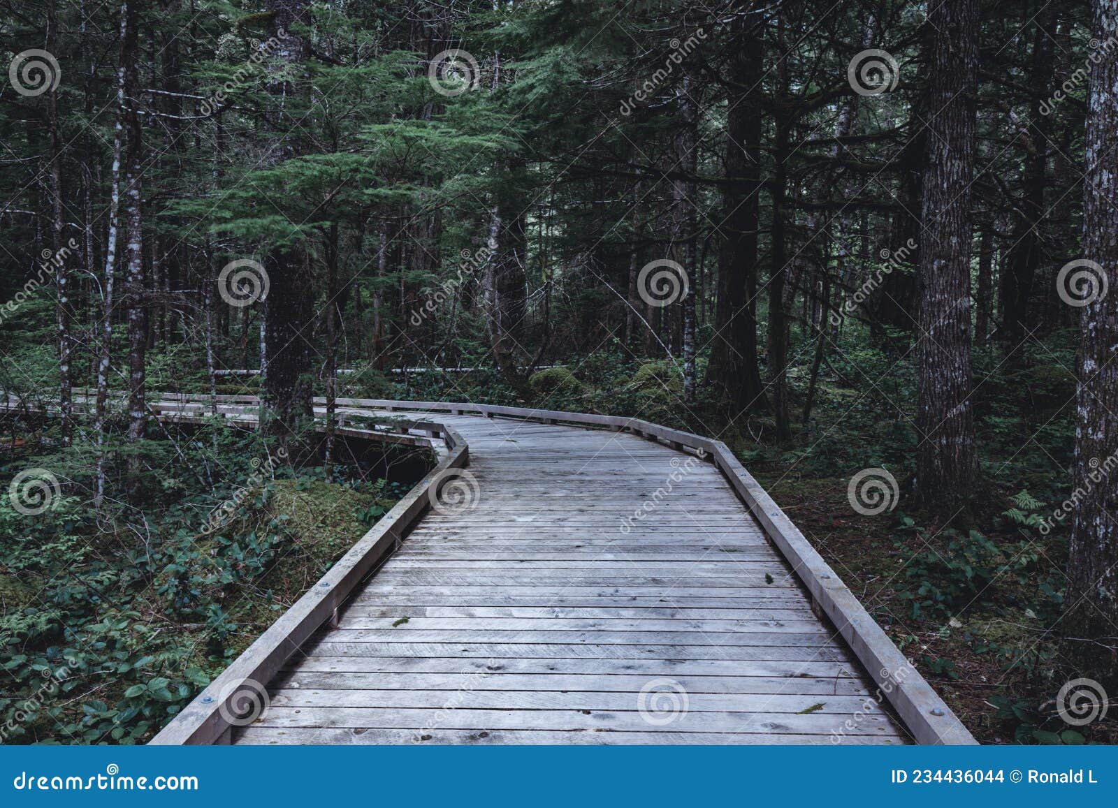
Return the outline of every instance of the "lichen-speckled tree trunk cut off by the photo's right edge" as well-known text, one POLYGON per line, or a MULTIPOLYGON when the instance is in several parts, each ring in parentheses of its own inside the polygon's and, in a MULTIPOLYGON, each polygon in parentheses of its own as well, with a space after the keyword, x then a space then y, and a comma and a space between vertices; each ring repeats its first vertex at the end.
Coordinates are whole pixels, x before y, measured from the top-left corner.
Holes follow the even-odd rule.
MULTIPOLYGON (((1092 36, 1118 37, 1118 0, 1095 0, 1092 36)), ((1093 300, 1082 311, 1076 507, 1067 629, 1077 675, 1118 688, 1118 49, 1091 66, 1083 182, 1083 258, 1093 300), (1105 274, 1105 275, 1103 275, 1105 274), (1103 279, 1108 282, 1102 285, 1103 279), (1109 292, 1107 291, 1109 287, 1109 292)), ((1114 696, 1111 696, 1111 700, 1114 696)))

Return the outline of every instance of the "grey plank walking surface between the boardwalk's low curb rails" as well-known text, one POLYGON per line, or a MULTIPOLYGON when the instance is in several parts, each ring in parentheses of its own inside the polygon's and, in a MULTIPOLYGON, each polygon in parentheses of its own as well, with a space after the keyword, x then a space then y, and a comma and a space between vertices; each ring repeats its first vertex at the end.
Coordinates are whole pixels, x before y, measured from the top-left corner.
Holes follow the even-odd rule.
POLYGON ((712 464, 437 419, 468 443, 473 505, 425 514, 234 743, 907 741, 712 464))

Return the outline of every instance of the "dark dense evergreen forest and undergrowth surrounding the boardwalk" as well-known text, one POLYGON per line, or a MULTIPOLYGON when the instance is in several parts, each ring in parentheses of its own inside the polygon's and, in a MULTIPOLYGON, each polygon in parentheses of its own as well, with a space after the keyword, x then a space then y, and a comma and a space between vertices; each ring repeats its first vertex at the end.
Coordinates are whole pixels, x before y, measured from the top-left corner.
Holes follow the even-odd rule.
POLYGON ((398 495, 332 440, 367 397, 717 436, 980 740, 1112 742, 1054 702, 1118 692, 1116 37, 1116 0, 0 0, 4 740, 187 703, 398 495))

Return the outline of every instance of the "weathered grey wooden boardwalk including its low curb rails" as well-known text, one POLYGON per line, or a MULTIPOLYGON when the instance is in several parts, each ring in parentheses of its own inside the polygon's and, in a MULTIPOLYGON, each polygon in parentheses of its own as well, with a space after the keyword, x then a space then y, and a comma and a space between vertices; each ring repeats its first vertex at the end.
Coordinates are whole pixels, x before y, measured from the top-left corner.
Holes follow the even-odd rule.
MULTIPOLYGON (((219 399, 255 426, 255 397, 219 399)), ((975 743, 724 444, 339 405, 339 434, 438 464, 152 743, 975 743)))

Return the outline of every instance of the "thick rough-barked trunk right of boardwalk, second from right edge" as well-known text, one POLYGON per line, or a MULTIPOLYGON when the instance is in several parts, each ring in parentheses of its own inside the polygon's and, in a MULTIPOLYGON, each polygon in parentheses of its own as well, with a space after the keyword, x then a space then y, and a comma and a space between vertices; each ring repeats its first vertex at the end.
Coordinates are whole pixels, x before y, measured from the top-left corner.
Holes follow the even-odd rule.
POLYGON ((945 0, 928 28, 927 162, 920 250, 917 485, 927 507, 946 512, 975 479, 970 413, 970 184, 978 74, 977 0, 945 0))

